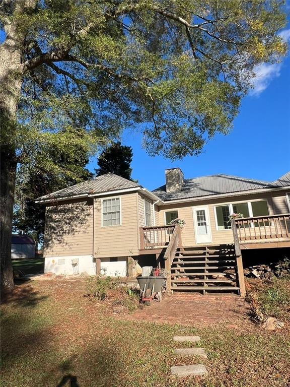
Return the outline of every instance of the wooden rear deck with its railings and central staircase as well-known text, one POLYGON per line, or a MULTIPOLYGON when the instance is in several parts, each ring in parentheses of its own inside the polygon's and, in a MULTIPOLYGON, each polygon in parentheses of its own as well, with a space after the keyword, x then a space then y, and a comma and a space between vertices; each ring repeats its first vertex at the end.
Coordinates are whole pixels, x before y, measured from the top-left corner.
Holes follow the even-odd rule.
POLYGON ((290 247, 290 214, 231 220, 233 244, 183 246, 180 225, 140 228, 139 254, 156 254, 172 291, 245 296, 242 250, 290 247))

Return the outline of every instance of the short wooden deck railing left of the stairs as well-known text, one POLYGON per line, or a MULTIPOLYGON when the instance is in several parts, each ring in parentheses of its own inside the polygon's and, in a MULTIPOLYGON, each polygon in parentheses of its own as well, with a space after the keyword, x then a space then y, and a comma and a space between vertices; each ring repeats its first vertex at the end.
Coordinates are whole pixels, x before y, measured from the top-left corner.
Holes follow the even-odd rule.
POLYGON ((169 244, 175 225, 140 227, 140 249, 166 246, 169 244))

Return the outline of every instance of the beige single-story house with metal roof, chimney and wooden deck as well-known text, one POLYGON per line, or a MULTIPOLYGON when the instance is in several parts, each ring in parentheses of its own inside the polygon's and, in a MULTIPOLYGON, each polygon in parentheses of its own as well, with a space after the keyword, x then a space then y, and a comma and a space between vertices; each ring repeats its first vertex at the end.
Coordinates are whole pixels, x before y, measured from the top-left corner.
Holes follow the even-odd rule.
POLYGON ((163 267, 172 290, 244 294, 244 249, 290 247, 290 172, 266 182, 165 171, 149 191, 108 173, 37 200, 46 205, 45 272, 125 276, 163 267), (233 213, 243 218, 229 220, 233 213), (170 225, 176 218, 185 221, 170 225))

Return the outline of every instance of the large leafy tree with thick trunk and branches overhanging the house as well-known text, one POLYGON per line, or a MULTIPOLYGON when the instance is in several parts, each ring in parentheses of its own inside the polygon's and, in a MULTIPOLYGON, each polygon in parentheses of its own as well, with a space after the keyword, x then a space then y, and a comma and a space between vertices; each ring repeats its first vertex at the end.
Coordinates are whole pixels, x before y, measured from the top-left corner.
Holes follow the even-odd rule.
POLYGON ((0 5, 4 290, 14 286, 10 248, 19 163, 59 171, 51 146, 69 154, 79 144, 89 154, 124 126, 143 131, 150 154, 198 154, 215 133, 231 128, 255 65, 285 53, 277 36, 285 23, 278 0, 0 5))

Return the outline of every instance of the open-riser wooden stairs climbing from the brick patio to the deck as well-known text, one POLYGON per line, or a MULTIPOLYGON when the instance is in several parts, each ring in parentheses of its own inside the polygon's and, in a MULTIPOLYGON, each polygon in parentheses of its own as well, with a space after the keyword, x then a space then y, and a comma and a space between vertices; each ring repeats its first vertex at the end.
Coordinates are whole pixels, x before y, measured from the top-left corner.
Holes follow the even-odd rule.
POLYGON ((171 265, 172 291, 240 293, 234 245, 178 248, 171 265))

